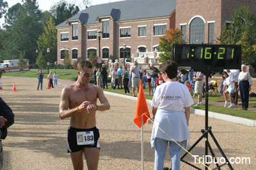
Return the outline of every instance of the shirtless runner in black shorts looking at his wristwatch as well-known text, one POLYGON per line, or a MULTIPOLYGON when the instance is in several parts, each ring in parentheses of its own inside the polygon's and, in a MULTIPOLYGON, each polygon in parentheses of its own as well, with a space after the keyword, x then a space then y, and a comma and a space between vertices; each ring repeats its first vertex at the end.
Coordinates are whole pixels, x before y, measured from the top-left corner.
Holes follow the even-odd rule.
POLYGON ((90 84, 93 76, 90 61, 79 61, 77 74, 76 83, 61 92, 60 118, 70 118, 67 144, 74 169, 83 169, 83 155, 88 169, 97 169, 100 146, 95 113, 108 110, 110 105, 102 89, 90 84), (97 105, 97 98, 100 105, 97 105))

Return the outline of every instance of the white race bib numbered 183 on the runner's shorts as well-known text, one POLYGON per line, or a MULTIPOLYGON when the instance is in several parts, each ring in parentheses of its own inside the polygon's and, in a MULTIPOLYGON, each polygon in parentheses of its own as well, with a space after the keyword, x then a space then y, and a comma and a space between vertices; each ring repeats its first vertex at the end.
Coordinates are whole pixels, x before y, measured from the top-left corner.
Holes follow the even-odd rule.
POLYGON ((93 131, 76 132, 77 145, 94 144, 93 131))

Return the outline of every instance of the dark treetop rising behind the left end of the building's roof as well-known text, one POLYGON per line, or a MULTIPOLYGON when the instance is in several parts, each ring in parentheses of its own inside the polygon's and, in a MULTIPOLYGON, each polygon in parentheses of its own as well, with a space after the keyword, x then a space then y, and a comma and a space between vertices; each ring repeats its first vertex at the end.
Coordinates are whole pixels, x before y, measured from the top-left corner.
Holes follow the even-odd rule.
POLYGON ((75 6, 75 4, 68 4, 66 1, 60 1, 51 7, 50 12, 57 26, 61 22, 76 15, 79 12, 79 7, 75 6))

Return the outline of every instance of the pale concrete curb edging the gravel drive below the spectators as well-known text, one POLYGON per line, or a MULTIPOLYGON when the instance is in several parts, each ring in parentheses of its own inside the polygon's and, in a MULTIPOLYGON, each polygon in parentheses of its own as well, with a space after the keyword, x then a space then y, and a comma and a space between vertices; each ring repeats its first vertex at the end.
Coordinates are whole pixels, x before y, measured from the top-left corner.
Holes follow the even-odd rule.
MULTIPOLYGON (((137 100, 138 97, 130 97, 130 96, 127 96, 127 95, 121 95, 121 94, 117 94, 117 93, 112 93, 112 92, 108 92, 108 91, 104 91, 104 94, 106 95, 112 95, 112 96, 116 96, 116 97, 122 97, 122 98, 127 98, 127 99, 130 99, 130 100, 137 100)), ((147 104, 151 104, 152 100, 147 100, 147 104)), ((192 114, 198 114, 198 115, 201 115, 201 116, 205 116, 205 111, 204 110, 200 110, 200 109, 194 109, 194 108, 191 108, 190 109, 191 113, 192 114)), ((248 127, 256 127, 256 120, 250 120, 250 119, 246 119, 246 118, 240 118, 240 117, 237 117, 237 116, 230 116, 230 115, 227 115, 227 114, 221 114, 221 113, 218 113, 218 112, 208 112, 208 116, 210 118, 216 118, 218 120, 224 120, 224 121, 230 121, 230 122, 233 122, 233 123, 239 123, 241 125, 246 125, 248 127)))

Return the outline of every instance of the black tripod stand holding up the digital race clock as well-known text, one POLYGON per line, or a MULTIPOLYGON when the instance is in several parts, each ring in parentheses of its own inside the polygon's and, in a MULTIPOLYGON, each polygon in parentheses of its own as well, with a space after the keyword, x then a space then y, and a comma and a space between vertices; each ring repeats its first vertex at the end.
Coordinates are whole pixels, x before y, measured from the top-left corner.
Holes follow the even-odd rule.
MULTIPOLYGON (((205 162, 207 162, 207 155, 208 155, 208 148, 211 151, 211 155, 212 158, 214 158, 216 160, 215 154, 211 148, 211 144, 208 141, 208 134, 211 135, 212 140, 214 141, 214 143, 216 144, 216 146, 218 147, 218 150, 220 151, 221 155, 225 158, 226 164, 222 164, 221 166, 225 166, 228 165, 228 167, 233 170, 233 167, 231 166, 228 158, 226 157, 225 153, 223 152, 223 150, 220 147, 220 144, 218 143, 218 141, 216 140, 216 138, 214 137, 214 135, 212 134, 212 127, 208 127, 208 90, 209 90, 209 86, 208 86, 208 79, 209 79, 209 75, 210 72, 207 71, 205 72, 205 76, 206 76, 206 90, 205 90, 205 129, 202 129, 201 132, 203 133, 201 135, 201 137, 189 148, 188 151, 193 150, 193 148, 195 148, 196 144, 198 144, 203 138, 205 139, 205 162)), ((182 155, 182 157, 180 158, 180 160, 182 162, 185 162, 186 164, 188 164, 189 166, 194 167, 195 169, 200 169, 196 166, 194 166, 193 164, 187 162, 186 160, 183 160, 184 157, 186 157, 186 155, 188 154, 188 152, 184 153, 184 155, 182 155)), ((209 164, 205 164, 206 166, 209 166, 209 164)), ((220 165, 218 163, 216 163, 216 166, 218 169, 220 169, 220 165)), ((205 167, 205 170, 207 170, 207 167, 205 167)))

